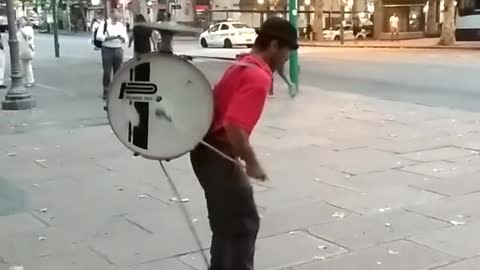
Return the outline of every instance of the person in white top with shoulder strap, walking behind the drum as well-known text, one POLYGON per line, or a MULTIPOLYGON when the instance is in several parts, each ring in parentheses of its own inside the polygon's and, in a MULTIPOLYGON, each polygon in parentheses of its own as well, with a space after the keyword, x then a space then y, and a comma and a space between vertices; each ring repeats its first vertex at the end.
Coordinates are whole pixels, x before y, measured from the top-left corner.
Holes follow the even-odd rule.
POLYGON ((101 22, 98 27, 97 39, 102 42, 103 99, 106 99, 112 70, 115 74, 123 63, 122 46, 128 40, 128 34, 127 28, 120 22, 120 12, 117 9, 112 9, 110 19, 101 22))

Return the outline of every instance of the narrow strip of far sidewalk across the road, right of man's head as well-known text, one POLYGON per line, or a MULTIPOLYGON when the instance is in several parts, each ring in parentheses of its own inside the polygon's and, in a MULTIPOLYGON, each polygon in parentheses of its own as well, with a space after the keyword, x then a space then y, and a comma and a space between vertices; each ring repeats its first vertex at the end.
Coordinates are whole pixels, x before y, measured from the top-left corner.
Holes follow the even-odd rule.
POLYGON ((480 42, 456 42, 452 46, 438 45, 438 38, 389 40, 348 40, 344 45, 340 41, 302 41, 304 47, 344 47, 344 48, 391 48, 391 49, 458 49, 480 50, 480 42))

